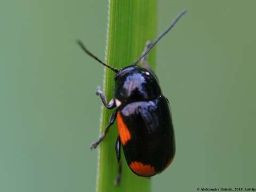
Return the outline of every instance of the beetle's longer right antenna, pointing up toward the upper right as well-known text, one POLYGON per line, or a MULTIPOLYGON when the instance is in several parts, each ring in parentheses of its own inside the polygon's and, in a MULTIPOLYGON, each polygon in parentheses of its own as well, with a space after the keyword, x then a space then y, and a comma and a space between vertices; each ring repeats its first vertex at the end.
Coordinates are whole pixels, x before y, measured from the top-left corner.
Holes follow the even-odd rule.
POLYGON ((180 20, 180 18, 181 18, 183 15, 185 15, 186 12, 187 12, 186 9, 183 10, 183 11, 181 11, 181 12, 178 14, 177 18, 172 21, 172 25, 171 25, 170 27, 168 27, 168 28, 164 31, 164 33, 162 33, 159 37, 157 37, 154 42, 150 43, 150 44, 148 45, 147 51, 143 52, 143 53, 140 55, 140 57, 132 63, 132 65, 137 65, 137 63, 138 63, 143 57, 145 57, 145 55, 147 55, 148 52, 157 44, 157 42, 160 41, 160 39, 161 39, 163 36, 165 36, 165 35, 176 25, 176 23, 180 20))

